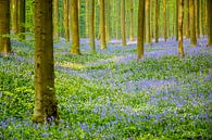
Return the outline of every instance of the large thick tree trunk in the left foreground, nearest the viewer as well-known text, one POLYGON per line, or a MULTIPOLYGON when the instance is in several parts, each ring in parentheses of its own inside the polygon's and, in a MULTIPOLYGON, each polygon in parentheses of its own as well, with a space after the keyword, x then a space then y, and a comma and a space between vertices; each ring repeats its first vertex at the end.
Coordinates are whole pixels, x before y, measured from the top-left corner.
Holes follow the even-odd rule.
POLYGON ((51 120, 58 122, 58 103, 54 93, 52 0, 35 0, 35 109, 33 119, 36 123, 50 123, 51 120))

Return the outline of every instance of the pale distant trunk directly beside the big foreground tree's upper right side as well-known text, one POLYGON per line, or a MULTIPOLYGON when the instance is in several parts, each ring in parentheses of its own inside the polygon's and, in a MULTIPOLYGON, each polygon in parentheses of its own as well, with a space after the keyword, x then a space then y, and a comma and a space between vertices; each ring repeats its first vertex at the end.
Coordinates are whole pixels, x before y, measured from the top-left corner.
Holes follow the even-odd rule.
POLYGON ((59 0, 53 0, 53 37, 59 40, 59 0))

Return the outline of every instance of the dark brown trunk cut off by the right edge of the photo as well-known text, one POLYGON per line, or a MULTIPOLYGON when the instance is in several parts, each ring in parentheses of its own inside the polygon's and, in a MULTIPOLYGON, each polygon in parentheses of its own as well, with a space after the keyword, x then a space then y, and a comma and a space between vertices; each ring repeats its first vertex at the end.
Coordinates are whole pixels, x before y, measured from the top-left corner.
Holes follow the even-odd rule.
POLYGON ((209 31, 208 31, 208 47, 212 46, 212 14, 211 14, 211 9, 212 9, 212 1, 208 0, 208 26, 209 26, 209 31))

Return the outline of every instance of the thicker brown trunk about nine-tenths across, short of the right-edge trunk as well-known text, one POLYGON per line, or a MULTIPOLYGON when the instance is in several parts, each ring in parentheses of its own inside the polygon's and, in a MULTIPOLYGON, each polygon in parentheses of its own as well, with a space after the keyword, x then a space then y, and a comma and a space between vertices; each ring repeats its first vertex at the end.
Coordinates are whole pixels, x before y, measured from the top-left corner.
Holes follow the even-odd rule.
POLYGON ((190 37, 191 46, 197 44, 196 27, 195 27, 195 0, 189 0, 189 14, 190 14, 190 37))

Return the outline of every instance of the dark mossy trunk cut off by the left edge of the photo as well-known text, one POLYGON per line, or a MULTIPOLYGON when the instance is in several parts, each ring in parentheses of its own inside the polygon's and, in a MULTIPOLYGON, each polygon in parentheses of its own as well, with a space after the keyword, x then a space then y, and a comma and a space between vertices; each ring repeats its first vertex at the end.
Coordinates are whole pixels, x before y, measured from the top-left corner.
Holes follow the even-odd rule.
POLYGON ((10 0, 0 0, 0 53, 10 53, 10 0))

